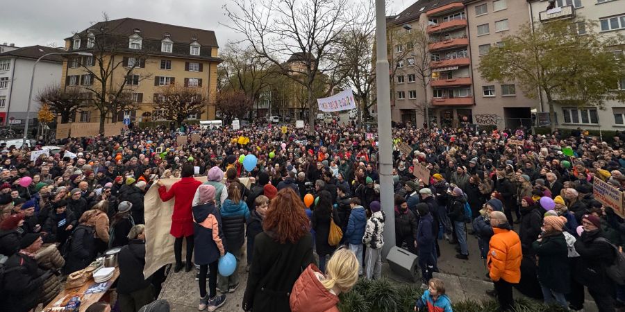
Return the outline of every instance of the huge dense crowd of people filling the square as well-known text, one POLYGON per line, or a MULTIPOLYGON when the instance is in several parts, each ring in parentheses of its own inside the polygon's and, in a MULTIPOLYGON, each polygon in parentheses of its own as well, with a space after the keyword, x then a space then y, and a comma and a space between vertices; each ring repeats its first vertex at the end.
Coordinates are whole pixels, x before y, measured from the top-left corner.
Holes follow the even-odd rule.
POLYGON ((3 144, 0 310, 34 309, 58 293, 44 287, 50 280, 122 247, 122 312, 153 302, 165 275, 183 269, 197 270, 200 310, 222 306, 247 274, 244 311, 338 311, 338 295, 359 277, 381 278, 389 222, 396 245, 419 259, 426 292, 415 309, 451 311, 433 279, 438 259, 453 257, 440 244, 456 245, 453 261, 484 259, 501 311, 512 307, 512 287, 574 311, 585 289, 599 311, 623 306, 623 275, 609 273, 623 257, 622 207, 593 193, 598 180, 624 190, 625 133, 601 141, 583 130, 395 125, 392 136, 392 209, 381 207, 380 189, 390 186, 380 185, 376 134, 353 125, 183 125, 39 140, 32 149, 3 144), (60 150, 31 159, 46 145, 60 150), (257 159, 250 170, 247 155, 257 159), (170 177, 180 180, 165 187, 160 179, 170 177), (145 278, 144 196, 153 184, 160 200, 174 200, 175 263, 145 278), (392 210, 394 218, 383 212, 392 210), (44 250, 53 255, 38 257, 44 250), (247 268, 220 275, 226 253, 247 257, 247 268))

